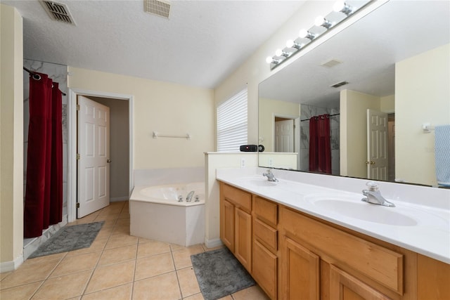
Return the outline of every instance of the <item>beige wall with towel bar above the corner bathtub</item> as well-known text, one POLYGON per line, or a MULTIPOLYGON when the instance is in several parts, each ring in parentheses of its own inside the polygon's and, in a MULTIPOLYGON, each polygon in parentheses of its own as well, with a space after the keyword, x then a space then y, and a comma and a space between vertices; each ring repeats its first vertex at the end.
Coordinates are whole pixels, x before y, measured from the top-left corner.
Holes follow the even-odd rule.
POLYGON ((119 74, 69 67, 68 86, 134 98, 133 169, 203 167, 214 150, 213 91, 119 74), (153 138, 162 134, 184 138, 153 138))

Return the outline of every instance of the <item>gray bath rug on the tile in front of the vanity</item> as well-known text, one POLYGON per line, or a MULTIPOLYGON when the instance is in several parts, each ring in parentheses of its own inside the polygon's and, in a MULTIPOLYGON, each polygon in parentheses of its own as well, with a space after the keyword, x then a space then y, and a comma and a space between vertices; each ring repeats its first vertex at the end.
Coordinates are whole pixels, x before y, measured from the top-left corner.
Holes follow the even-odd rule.
POLYGON ((216 300, 255 285, 255 280, 228 248, 191 255, 205 300, 216 300))

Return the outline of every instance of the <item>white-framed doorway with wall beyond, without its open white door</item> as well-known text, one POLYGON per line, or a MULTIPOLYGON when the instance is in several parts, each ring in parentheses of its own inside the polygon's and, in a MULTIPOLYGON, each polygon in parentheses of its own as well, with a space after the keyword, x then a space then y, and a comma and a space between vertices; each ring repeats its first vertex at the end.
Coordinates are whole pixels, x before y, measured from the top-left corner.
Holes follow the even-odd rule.
POLYGON ((134 186, 132 169, 133 96, 82 89, 69 89, 68 96, 68 221, 72 222, 77 219, 77 200, 79 198, 79 195, 77 195, 77 185, 79 184, 77 182, 77 98, 78 96, 84 96, 110 107, 110 136, 112 138, 110 147, 110 201, 113 202, 128 200, 134 186), (127 127, 127 129, 123 130, 124 127, 127 127), (117 144, 120 144, 121 147, 117 147, 117 144), (122 150, 119 148, 122 148, 122 150), (128 169, 128 172, 124 172, 124 169, 128 169), (120 184, 116 184, 117 181, 120 181, 120 184), (123 188, 124 185, 125 188, 123 188), (122 188, 120 188, 121 186, 122 188))

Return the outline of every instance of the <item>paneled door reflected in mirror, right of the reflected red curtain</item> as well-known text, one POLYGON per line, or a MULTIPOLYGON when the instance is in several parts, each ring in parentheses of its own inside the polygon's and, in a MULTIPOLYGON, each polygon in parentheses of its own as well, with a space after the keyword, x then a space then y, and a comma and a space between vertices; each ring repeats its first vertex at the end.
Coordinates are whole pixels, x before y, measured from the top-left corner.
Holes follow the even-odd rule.
POLYGON ((367 177, 387 181, 387 113, 367 110, 367 177))

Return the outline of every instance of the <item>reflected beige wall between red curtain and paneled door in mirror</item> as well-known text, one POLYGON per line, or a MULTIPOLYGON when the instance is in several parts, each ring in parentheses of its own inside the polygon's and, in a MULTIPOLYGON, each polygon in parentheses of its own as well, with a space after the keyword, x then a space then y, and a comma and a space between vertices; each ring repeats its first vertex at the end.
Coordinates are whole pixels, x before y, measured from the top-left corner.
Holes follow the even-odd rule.
POLYGON ((380 110, 380 97, 340 91, 340 175, 367 178, 367 109, 380 110))

